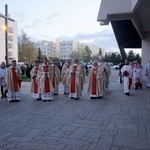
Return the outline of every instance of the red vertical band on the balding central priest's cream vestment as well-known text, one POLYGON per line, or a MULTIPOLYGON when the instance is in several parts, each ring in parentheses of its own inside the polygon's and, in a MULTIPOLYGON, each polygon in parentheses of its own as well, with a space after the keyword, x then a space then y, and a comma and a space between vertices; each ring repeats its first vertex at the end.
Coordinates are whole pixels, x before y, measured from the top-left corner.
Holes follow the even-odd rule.
POLYGON ((75 76, 75 71, 77 69, 77 66, 73 66, 73 73, 71 74, 71 89, 70 92, 71 93, 75 93, 76 89, 75 89, 75 85, 76 85, 76 76, 75 76))

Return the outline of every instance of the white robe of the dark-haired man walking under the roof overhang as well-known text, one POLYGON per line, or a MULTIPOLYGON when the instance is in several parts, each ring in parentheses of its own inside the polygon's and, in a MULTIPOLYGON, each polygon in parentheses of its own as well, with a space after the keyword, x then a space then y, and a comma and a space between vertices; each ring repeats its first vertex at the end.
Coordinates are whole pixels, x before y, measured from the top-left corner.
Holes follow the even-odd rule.
POLYGON ((132 66, 131 65, 124 65, 121 68, 121 73, 124 74, 125 71, 127 71, 128 75, 123 76, 124 78, 124 93, 129 93, 130 92, 130 79, 132 77, 132 66))

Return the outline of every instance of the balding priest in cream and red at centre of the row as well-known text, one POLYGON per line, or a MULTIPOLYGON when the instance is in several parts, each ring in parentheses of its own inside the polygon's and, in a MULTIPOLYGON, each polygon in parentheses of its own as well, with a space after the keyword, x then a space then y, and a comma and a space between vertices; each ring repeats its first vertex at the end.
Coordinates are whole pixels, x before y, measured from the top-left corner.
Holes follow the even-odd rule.
POLYGON ((77 100, 82 94, 84 82, 84 68, 79 64, 78 58, 75 58, 69 72, 69 97, 77 100))

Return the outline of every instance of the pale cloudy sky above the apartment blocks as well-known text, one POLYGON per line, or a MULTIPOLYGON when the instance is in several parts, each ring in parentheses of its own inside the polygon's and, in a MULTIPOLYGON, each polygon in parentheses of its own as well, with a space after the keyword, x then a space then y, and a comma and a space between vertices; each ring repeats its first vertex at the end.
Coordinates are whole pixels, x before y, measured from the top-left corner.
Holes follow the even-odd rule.
POLYGON ((34 41, 75 40, 118 50, 111 25, 97 22, 101 0, 0 0, 0 12, 5 4, 11 18, 34 41))

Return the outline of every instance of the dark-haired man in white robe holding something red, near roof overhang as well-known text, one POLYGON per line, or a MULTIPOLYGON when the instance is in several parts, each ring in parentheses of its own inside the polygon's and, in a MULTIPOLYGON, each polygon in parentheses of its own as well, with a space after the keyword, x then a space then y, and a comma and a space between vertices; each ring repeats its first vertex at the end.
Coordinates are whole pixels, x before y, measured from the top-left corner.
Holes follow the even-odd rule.
POLYGON ((132 84, 132 66, 129 64, 128 60, 125 60, 125 65, 121 68, 121 73, 124 78, 124 94, 129 96, 132 84))

